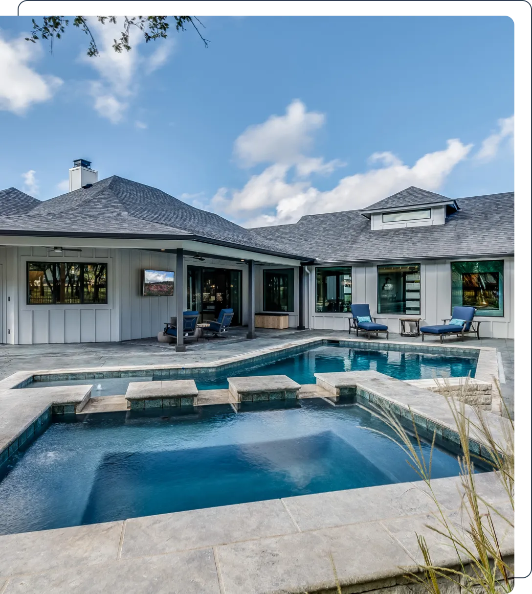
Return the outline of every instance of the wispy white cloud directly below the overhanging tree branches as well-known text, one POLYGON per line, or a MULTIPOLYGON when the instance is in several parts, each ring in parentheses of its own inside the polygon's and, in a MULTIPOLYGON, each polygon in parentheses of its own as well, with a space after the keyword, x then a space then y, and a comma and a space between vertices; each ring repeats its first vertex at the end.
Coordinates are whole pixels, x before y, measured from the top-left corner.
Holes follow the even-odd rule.
MULTIPOLYGON (((156 49, 148 55, 141 53, 145 46, 144 34, 138 27, 129 29, 129 46, 131 50, 115 52, 113 43, 119 39, 124 28, 124 21, 117 17, 116 25, 102 24, 96 17, 87 17, 91 31, 96 39, 98 56, 80 56, 80 60, 99 74, 99 80, 91 81, 90 95, 94 99, 94 109, 110 122, 116 124, 124 119, 132 97, 137 93, 143 75, 150 74, 160 68, 168 59, 174 46, 171 39, 159 39, 156 49)), ((157 43, 152 42, 152 43, 157 43)), ((150 44, 151 50, 153 46, 150 44)))

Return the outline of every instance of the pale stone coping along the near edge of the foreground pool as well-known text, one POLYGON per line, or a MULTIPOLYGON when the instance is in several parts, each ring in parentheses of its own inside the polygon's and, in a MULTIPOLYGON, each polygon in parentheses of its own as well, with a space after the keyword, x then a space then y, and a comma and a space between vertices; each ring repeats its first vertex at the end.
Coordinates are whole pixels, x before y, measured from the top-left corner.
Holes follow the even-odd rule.
MULTIPOLYGON (((495 473, 476 475, 476 482, 512 523, 493 514, 513 568, 508 497, 495 473)), ((435 479, 432 488, 459 525, 458 479, 435 479)), ((343 594, 381 592, 407 583, 405 570, 422 562, 416 533, 426 537, 433 563, 458 564, 425 526, 434 525, 434 510, 419 481, 2 535, 0 592, 331 593, 334 573, 343 594)))

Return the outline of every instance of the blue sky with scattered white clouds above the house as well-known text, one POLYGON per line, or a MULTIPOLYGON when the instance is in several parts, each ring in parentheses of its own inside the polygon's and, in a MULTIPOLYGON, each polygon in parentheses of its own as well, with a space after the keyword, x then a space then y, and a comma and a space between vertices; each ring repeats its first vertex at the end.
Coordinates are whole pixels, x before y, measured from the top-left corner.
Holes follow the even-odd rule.
POLYGON ((189 27, 122 55, 96 23, 88 58, 1 17, 0 188, 62 194, 82 157, 247 226, 515 189, 511 17, 201 20, 208 49, 189 27))

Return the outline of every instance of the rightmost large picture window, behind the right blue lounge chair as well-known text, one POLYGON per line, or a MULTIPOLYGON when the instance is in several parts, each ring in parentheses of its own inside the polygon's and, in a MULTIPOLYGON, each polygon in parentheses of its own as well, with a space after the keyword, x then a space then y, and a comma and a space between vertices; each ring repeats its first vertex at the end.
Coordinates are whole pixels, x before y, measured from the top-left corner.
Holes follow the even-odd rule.
POLYGON ((503 260, 451 262, 451 311, 456 305, 472 305, 476 315, 502 317, 503 277, 503 260))

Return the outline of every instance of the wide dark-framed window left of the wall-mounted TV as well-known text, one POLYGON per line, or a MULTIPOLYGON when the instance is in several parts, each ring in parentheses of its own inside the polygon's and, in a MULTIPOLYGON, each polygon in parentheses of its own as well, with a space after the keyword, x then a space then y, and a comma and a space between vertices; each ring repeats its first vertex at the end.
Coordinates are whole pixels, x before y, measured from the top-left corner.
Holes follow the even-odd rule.
POLYGON ((28 262, 28 305, 107 303, 107 264, 28 262))

